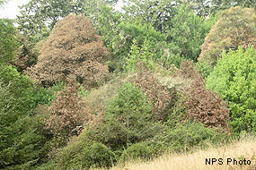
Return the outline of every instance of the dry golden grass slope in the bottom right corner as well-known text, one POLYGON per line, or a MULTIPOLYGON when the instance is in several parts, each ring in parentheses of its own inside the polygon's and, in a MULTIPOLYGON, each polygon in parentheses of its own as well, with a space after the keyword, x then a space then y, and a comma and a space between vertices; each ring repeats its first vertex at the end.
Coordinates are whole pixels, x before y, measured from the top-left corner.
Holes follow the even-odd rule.
MULTIPOLYGON (((242 158, 243 159, 243 158, 242 158)), ((234 142, 231 145, 206 150, 199 150, 190 154, 172 154, 159 157, 151 162, 128 163, 126 166, 116 166, 111 170, 234 170, 250 169, 256 170, 256 138, 247 137, 246 139, 234 142), (227 158, 236 159, 245 157, 251 160, 251 166, 234 166, 233 162, 227 165, 227 158), (206 165, 206 158, 223 158, 223 165, 206 165)))

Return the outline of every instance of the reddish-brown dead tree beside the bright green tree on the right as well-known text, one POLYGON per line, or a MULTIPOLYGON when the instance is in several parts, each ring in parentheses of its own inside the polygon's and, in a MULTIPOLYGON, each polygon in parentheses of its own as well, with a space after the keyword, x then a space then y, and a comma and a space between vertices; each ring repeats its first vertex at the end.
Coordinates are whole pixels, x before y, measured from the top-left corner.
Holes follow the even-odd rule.
POLYGON ((207 127, 221 127, 227 132, 229 110, 223 98, 205 88, 205 82, 195 71, 192 62, 184 60, 178 72, 180 76, 192 79, 190 87, 186 89, 186 117, 204 123, 207 127))

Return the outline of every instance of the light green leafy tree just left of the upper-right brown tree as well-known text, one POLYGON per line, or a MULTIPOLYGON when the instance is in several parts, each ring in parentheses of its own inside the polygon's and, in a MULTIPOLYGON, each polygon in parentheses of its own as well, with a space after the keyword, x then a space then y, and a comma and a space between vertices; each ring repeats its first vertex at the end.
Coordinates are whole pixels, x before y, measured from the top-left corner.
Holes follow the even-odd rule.
POLYGON ((204 17, 199 17, 190 10, 189 6, 181 4, 178 13, 170 21, 169 25, 172 27, 166 33, 168 39, 172 39, 172 55, 197 61, 204 38, 215 21, 214 16, 206 21, 204 17))

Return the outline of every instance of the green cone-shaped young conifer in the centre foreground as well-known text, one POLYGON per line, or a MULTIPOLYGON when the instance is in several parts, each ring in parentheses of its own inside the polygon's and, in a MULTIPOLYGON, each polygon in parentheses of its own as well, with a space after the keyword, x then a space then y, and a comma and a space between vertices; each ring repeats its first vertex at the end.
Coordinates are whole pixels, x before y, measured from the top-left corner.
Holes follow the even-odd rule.
POLYGON ((110 100, 102 123, 92 128, 90 136, 114 150, 151 139, 163 130, 160 123, 153 122, 151 111, 141 90, 126 82, 110 100))

